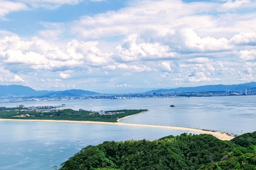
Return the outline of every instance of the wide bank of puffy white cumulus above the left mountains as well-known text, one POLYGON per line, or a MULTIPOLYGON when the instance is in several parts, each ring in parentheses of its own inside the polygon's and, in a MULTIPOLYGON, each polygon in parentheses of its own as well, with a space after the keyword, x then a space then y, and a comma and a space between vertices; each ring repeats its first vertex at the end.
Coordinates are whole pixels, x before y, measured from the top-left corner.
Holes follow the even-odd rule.
POLYGON ((102 66, 113 63, 111 55, 102 53, 98 42, 72 40, 65 47, 38 38, 22 41, 18 36, 0 39, 3 64, 26 65, 35 70, 69 70, 84 66, 102 66))

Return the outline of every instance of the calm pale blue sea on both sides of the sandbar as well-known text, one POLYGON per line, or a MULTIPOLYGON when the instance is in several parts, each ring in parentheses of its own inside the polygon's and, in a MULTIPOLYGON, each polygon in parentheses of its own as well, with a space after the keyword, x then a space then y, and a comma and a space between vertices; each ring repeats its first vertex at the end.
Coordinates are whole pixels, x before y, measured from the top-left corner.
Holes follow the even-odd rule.
MULTIPOLYGON (((148 109, 123 123, 183 126, 229 133, 256 131, 256 96, 132 98, 0 103, 0 107, 59 106, 79 110, 148 109), (170 107, 174 105, 176 107, 170 107)), ((0 121, 0 170, 52 170, 82 148, 104 141, 156 140, 196 133, 156 127, 0 121)))

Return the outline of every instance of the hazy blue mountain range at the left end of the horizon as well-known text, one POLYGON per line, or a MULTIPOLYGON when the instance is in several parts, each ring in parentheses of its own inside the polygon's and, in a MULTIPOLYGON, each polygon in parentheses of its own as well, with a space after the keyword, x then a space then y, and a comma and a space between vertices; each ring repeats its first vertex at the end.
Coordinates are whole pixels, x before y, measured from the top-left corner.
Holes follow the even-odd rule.
POLYGON ((0 85, 0 96, 13 97, 13 96, 28 96, 28 97, 64 97, 64 96, 82 96, 82 95, 94 95, 99 94, 96 92, 90 92, 87 90, 65 90, 65 91, 36 91, 27 86, 21 85, 0 85))

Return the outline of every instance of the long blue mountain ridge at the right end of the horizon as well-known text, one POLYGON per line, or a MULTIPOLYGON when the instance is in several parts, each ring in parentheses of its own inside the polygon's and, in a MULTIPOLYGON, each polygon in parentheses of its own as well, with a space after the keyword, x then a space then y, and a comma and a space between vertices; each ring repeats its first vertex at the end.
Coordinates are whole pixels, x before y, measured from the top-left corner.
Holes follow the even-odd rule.
POLYGON ((256 82, 233 84, 233 85, 206 85, 197 87, 179 87, 171 89, 151 90, 146 93, 161 93, 161 92, 211 92, 211 91, 241 91, 241 90, 256 90, 256 82))

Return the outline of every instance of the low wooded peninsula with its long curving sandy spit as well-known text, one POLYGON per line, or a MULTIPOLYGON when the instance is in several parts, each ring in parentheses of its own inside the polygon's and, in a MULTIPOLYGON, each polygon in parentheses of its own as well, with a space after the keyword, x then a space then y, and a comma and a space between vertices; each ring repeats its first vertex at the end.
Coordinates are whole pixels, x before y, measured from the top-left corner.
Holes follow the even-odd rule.
MULTIPOLYGON (((44 108, 46 109, 46 108, 44 108)), ((112 111, 75 111, 72 109, 64 109, 59 111, 28 111, 26 108, 0 108, 0 121, 58 121, 58 122, 71 122, 71 123, 98 123, 110 125, 129 125, 129 126, 143 126, 143 127, 156 127, 167 129, 178 129, 188 131, 190 133, 204 133, 210 134, 221 140, 231 140, 234 137, 228 136, 226 133, 219 131, 203 131, 202 129, 176 127, 176 126, 163 126, 163 125, 146 125, 134 123, 122 123, 121 119, 143 113, 148 109, 124 109, 112 111)))

